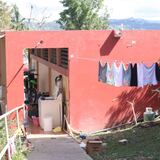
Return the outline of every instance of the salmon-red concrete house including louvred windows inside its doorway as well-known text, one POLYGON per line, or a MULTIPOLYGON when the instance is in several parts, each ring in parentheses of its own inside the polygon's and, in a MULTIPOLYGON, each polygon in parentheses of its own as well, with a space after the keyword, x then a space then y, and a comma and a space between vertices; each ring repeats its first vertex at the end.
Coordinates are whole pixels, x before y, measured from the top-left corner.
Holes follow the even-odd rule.
MULTIPOLYGON (((98 62, 115 60, 147 65, 160 59, 160 31, 5 32, 0 38, 0 84, 10 110, 24 101, 23 56, 38 73, 40 91, 53 94, 54 78, 63 75, 67 118, 72 128, 94 131, 133 120, 127 101, 135 98, 136 116, 147 106, 160 107, 159 87, 115 87, 98 81, 98 62), (43 43, 39 43, 39 42, 43 43), (37 45, 38 44, 38 45, 37 45)), ((5 110, 5 108, 3 108, 5 110)))

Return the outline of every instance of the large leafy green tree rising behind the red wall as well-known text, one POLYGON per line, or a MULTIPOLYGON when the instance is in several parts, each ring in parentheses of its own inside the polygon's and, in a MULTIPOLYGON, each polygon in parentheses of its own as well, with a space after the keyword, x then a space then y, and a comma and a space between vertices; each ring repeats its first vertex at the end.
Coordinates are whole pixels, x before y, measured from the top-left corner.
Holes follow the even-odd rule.
POLYGON ((66 30, 107 29, 109 14, 105 10, 103 17, 99 16, 103 0, 62 0, 65 9, 60 13, 57 23, 66 30))

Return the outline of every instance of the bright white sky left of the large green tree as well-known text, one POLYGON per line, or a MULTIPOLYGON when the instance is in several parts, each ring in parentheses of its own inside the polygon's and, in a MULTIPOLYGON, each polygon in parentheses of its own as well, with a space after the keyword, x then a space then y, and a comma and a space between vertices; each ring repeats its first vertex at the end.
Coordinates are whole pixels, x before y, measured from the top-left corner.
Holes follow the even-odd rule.
MULTIPOLYGON (((15 4, 15 0, 6 0, 9 4, 15 4)), ((48 21, 57 20, 59 13, 63 10, 59 0, 16 0, 23 17, 29 18, 31 5, 33 6, 32 18, 41 20, 44 16, 49 17, 48 21)))

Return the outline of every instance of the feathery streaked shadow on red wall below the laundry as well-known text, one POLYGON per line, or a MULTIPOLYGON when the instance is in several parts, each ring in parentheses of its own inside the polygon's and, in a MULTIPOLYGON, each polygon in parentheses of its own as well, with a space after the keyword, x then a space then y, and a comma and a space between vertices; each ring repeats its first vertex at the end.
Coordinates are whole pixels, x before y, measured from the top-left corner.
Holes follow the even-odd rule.
POLYGON ((110 110, 106 112, 106 116, 110 116, 107 120, 105 128, 124 124, 133 121, 133 112, 131 104, 127 101, 133 102, 135 100, 135 112, 137 118, 142 117, 146 107, 152 107, 153 110, 160 108, 160 95, 153 91, 157 86, 145 86, 144 88, 134 87, 130 91, 123 91, 116 97, 115 103, 110 110))

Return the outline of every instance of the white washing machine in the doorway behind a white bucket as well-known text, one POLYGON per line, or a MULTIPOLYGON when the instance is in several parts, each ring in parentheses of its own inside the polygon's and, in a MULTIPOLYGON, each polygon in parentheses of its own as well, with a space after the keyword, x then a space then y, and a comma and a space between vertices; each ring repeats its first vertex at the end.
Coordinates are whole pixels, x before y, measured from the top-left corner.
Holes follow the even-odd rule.
POLYGON ((59 95, 57 99, 53 97, 46 97, 44 100, 38 100, 39 108, 39 123, 40 127, 44 129, 45 117, 52 117, 52 127, 62 126, 62 95, 59 95))

